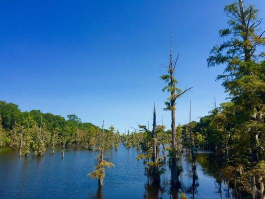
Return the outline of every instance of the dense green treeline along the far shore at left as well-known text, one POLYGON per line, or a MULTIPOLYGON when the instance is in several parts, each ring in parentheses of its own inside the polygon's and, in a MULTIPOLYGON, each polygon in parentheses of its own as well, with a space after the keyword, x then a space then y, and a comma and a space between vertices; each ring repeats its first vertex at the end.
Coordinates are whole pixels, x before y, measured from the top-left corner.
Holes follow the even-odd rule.
MULTIPOLYGON (((99 143, 101 129, 89 122, 82 122, 74 114, 42 113, 40 110, 22 112, 18 105, 0 101, 0 147, 19 148, 20 155, 42 155, 46 148, 54 153, 56 146, 82 147, 93 150, 99 143)), ((119 146, 119 132, 114 127, 105 129, 106 148, 119 146)))

